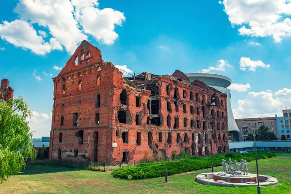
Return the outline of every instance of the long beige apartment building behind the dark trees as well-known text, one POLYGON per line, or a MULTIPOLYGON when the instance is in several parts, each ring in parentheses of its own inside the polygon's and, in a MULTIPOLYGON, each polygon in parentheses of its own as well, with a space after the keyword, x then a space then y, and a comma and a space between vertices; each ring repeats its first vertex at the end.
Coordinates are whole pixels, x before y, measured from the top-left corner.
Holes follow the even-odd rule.
POLYGON ((252 132, 250 129, 259 128, 261 125, 267 126, 270 131, 277 134, 276 117, 241 118, 235 119, 235 122, 242 134, 241 141, 247 137, 249 132, 252 132))

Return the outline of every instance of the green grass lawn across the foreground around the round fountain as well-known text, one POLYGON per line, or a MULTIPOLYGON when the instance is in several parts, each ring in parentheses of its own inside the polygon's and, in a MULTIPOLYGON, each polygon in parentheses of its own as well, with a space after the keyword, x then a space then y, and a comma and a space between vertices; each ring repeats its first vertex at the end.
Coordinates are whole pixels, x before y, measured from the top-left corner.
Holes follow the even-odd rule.
MULTIPOLYGON (((250 173, 256 173, 256 162, 248 162, 250 173)), ((220 171, 215 167, 214 171, 220 171)), ((3 181, 0 194, 9 193, 58 193, 58 194, 105 194, 105 193, 197 193, 197 194, 255 194, 256 187, 216 187, 201 185, 196 175, 210 172, 198 170, 168 177, 145 180, 122 180, 111 172, 76 170, 72 168, 29 165, 22 173, 3 181)), ((291 194, 291 153, 277 153, 276 157, 259 160, 259 174, 278 179, 275 186, 262 187, 262 194, 291 194)))

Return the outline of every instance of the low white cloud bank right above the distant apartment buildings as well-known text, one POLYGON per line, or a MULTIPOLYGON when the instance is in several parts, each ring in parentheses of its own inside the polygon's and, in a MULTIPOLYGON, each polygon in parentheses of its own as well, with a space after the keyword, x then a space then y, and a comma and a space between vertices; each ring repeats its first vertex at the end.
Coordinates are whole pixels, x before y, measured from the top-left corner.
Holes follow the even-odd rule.
POLYGON ((233 109, 234 116, 240 117, 264 117, 282 116, 282 110, 291 107, 291 89, 284 88, 275 93, 268 92, 249 92, 243 100, 238 100, 238 107, 233 109))

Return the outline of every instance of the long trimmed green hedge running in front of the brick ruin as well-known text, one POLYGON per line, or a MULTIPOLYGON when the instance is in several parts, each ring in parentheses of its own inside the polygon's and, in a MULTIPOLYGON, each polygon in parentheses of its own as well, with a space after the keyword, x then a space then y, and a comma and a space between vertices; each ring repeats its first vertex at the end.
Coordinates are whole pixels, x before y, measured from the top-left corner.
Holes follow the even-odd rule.
MULTIPOLYGON (((274 157, 273 152, 258 152, 258 159, 274 157)), ((228 161, 231 158, 232 161, 241 161, 241 159, 247 162, 253 161, 256 158, 255 152, 249 153, 226 153, 213 156, 214 166, 220 166, 221 160, 225 159, 228 161)), ((178 161, 167 162, 168 175, 175 175, 184 172, 190 172, 195 170, 201 170, 211 167, 211 156, 208 157, 197 157, 190 156, 186 159, 180 159, 178 161)), ((157 163, 140 163, 132 167, 118 168, 112 172, 114 178, 122 179, 146 179, 146 178, 157 178, 165 176, 165 162, 157 163)))

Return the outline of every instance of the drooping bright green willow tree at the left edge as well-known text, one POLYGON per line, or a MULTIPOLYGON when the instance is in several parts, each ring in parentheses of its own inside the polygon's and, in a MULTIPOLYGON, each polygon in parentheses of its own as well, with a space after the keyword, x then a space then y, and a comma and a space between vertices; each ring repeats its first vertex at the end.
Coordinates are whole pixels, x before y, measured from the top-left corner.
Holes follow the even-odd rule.
POLYGON ((9 178, 26 165, 24 159, 35 155, 28 118, 32 112, 23 97, 0 99, 0 179, 9 178))

